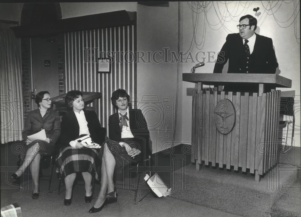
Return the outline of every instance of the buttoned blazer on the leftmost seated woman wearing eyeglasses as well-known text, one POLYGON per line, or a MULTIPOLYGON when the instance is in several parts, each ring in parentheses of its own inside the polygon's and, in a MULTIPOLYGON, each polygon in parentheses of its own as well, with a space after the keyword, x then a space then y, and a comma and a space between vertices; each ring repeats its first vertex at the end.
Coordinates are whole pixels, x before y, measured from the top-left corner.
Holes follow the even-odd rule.
POLYGON ((48 109, 44 117, 42 117, 40 110, 35 109, 27 114, 22 138, 23 140, 26 140, 27 136, 45 129, 46 137, 51 139, 52 143, 55 144, 60 135, 60 123, 61 119, 56 111, 48 109))

